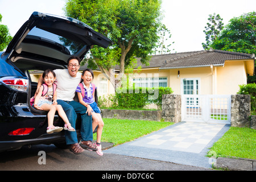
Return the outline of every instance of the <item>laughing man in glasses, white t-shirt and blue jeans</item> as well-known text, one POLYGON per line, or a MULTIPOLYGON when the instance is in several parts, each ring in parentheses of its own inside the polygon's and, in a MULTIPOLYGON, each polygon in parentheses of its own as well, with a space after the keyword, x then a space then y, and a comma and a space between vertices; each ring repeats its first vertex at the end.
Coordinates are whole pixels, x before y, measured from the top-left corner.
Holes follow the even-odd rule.
MULTIPOLYGON (((65 131, 66 142, 71 144, 69 150, 74 154, 80 154, 84 151, 83 148, 97 151, 97 147, 92 144, 92 116, 86 114, 87 108, 85 106, 73 100, 77 85, 81 81, 81 73, 78 72, 79 68, 79 57, 72 56, 68 59, 68 69, 54 70, 56 74, 55 83, 57 84, 57 104, 63 107, 72 127, 76 127, 77 114, 81 115, 81 144, 78 144, 76 132, 65 131)), ((38 81, 38 88, 42 84, 43 79, 41 76, 38 81)))

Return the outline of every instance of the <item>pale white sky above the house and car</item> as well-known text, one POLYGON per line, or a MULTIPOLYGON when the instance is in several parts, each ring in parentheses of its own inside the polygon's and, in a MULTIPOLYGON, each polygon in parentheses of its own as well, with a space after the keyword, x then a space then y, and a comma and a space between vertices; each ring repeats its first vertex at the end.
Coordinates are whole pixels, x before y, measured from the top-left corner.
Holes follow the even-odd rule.
MULTIPOLYGON (((64 16, 65 0, 0 0, 1 24, 14 36, 34 11, 64 16)), ((229 20, 256 11, 255 0, 162 0, 163 24, 171 31, 174 52, 203 50, 209 14, 220 14, 224 26, 229 20)))

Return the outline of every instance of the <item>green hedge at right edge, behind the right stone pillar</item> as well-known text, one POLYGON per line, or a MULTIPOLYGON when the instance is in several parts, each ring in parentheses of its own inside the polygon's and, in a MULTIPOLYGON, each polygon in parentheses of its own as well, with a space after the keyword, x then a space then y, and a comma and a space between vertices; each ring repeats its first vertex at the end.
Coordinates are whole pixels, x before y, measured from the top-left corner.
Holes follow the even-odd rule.
POLYGON ((251 96, 251 110, 256 110, 256 84, 239 85, 237 94, 249 94, 251 96))

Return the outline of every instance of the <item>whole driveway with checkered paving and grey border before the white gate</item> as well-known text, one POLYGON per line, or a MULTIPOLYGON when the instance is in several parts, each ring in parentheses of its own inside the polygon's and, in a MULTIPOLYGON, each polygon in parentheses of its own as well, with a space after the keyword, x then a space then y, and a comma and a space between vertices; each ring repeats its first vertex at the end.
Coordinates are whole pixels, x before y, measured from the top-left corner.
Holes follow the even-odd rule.
MULTIPOLYGON (((205 155, 229 127, 225 124, 179 122, 104 152, 212 168, 214 159, 205 155)), ((212 154, 216 156, 214 151, 212 154)))

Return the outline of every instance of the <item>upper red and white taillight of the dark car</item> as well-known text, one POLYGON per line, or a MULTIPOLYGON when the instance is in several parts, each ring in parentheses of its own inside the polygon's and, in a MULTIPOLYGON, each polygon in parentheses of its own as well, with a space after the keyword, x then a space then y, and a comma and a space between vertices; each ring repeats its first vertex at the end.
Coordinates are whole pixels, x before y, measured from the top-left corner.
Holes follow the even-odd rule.
POLYGON ((28 85, 27 78, 3 77, 0 79, 0 81, 14 90, 27 92, 27 85, 28 85))

